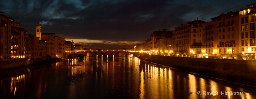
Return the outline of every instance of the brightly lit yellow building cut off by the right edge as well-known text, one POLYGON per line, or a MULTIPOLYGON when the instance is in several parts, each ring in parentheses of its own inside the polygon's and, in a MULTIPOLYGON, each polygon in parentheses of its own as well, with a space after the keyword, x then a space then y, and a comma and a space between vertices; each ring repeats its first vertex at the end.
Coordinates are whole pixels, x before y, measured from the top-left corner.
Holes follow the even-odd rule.
POLYGON ((247 9, 239 11, 239 42, 241 43, 239 52, 242 59, 253 59, 256 56, 255 44, 255 18, 256 3, 247 5, 247 9), (242 54, 244 53, 244 54, 242 54))

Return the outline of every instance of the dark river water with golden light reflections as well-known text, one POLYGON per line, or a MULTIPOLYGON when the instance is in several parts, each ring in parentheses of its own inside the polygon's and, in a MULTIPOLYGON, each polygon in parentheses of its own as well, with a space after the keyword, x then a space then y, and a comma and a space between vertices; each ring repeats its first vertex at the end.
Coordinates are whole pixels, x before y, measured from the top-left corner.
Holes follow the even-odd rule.
POLYGON ((1 99, 255 99, 256 87, 184 72, 132 57, 69 59, 2 70, 1 99), (235 92, 235 93, 234 93, 235 92))

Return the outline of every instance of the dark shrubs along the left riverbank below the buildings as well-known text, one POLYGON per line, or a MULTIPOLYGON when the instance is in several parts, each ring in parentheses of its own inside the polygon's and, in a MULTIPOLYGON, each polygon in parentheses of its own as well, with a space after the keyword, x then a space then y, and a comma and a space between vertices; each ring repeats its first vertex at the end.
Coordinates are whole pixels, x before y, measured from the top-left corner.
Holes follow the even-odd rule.
POLYGON ((30 63, 29 65, 47 65, 47 64, 61 62, 62 60, 63 59, 61 59, 61 58, 47 58, 43 61, 37 61, 37 62, 30 63))

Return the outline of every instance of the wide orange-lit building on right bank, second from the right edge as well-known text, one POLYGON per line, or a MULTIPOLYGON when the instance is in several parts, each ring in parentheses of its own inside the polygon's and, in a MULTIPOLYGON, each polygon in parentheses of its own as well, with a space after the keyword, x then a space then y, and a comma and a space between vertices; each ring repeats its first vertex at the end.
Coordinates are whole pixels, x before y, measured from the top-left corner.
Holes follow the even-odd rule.
MULTIPOLYGON (((238 11, 220 14, 203 24, 203 58, 237 59, 239 53, 238 11)), ((199 57, 200 58, 200 57, 199 57)))

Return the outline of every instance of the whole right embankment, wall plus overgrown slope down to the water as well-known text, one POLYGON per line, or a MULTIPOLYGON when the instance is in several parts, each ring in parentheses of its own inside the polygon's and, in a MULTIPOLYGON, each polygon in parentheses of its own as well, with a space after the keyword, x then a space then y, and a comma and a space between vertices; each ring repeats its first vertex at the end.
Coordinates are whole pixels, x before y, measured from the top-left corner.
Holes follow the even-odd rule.
POLYGON ((256 86, 256 61, 135 54, 142 60, 227 81, 256 86))

